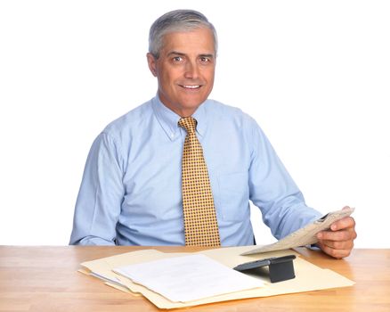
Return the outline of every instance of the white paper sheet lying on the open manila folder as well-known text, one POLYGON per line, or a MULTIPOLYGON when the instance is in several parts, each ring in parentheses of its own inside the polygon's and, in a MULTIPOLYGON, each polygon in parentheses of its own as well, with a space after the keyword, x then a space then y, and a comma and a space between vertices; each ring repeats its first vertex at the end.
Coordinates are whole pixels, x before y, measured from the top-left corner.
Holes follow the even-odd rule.
POLYGON ((202 254, 159 259, 118 267, 113 271, 174 302, 200 300, 264 286, 262 281, 202 254))

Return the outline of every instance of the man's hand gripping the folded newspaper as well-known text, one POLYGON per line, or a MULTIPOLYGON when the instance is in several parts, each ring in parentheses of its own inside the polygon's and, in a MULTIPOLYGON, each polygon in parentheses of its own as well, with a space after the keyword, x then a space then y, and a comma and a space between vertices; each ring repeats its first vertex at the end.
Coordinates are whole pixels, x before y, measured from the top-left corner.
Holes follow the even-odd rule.
POLYGON ((332 223, 328 231, 321 231, 317 234, 319 240, 317 245, 333 258, 341 259, 349 256, 353 249, 353 240, 357 236, 354 226, 355 222, 352 217, 339 219, 332 223))

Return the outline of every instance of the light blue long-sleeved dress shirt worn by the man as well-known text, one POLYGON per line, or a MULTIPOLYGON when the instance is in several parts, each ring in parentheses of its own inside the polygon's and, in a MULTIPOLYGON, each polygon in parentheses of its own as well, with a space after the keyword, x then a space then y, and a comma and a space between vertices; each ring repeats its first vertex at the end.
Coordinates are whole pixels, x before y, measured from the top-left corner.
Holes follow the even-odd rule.
MULTIPOLYGON (((223 246, 253 244, 249 201, 261 209, 278 239, 321 217, 305 205, 254 119, 213 100, 192 116, 198 120, 223 246)), ((71 244, 184 244, 186 133, 179 119, 156 96, 95 139, 77 197, 71 244)))

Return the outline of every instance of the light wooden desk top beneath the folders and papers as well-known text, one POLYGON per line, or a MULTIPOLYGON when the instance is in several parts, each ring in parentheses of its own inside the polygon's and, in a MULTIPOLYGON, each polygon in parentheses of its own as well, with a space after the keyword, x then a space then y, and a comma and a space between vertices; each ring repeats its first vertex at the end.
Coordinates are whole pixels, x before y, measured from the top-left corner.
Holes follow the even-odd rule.
MULTIPOLYGON (((77 273, 81 262, 140 249, 142 247, 0 246, 0 311, 158 311, 143 297, 115 290, 92 276, 77 273)), ((199 250, 189 247, 156 249, 165 252, 199 250)), ((331 268, 356 284, 325 291, 226 301, 191 310, 390 311, 390 250, 353 250, 353 254, 343 260, 330 259, 321 251, 304 248, 297 251, 317 266, 331 268)))

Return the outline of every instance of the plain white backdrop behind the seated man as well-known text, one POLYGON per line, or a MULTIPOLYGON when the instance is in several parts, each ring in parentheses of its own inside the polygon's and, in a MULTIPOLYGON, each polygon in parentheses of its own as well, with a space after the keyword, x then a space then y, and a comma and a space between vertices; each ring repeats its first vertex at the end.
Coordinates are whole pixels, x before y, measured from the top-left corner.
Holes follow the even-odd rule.
POLYGON ((355 207, 357 247, 390 248, 390 4, 375 0, 0 0, 0 244, 69 242, 87 152, 156 93, 148 31, 177 8, 218 31, 210 97, 258 121, 309 205, 355 207))

